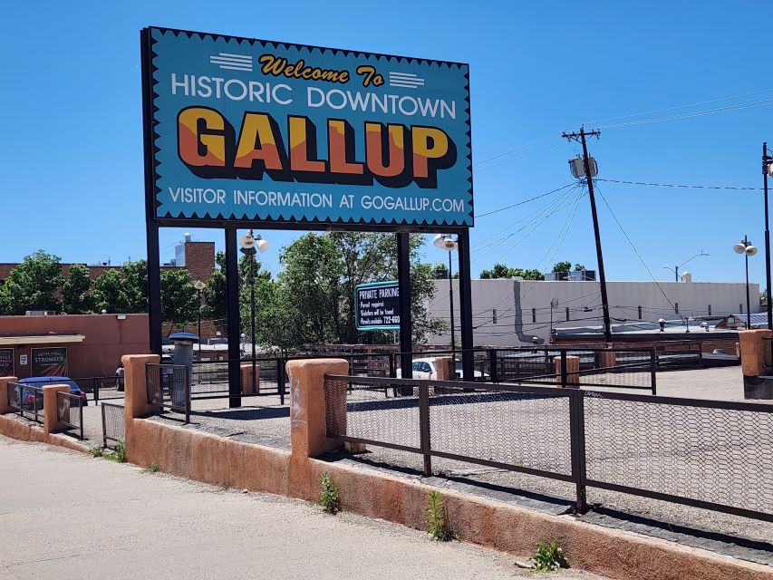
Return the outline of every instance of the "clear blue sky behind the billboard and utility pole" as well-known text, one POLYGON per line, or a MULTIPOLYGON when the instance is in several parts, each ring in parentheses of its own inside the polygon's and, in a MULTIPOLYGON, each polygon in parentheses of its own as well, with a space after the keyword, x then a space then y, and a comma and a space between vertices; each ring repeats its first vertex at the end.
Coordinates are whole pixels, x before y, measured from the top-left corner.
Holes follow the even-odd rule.
MULTIPOLYGON (((145 25, 469 63, 475 205, 483 214, 571 183, 566 160, 577 147, 556 135, 582 122, 603 127, 592 145, 600 178, 761 187, 761 141, 773 141, 771 23, 768 5, 720 2, 13 3, 0 34, 0 261, 38 247, 89 263, 145 255, 145 25), (738 110, 607 127, 732 105, 738 110)), ((740 281, 743 260, 732 244, 749 234, 763 247, 759 191, 598 185, 658 279, 672 279, 664 264, 703 249, 710 257, 684 268, 694 280, 740 281)), ((563 241, 570 207, 541 221, 561 193, 478 218, 473 274, 499 258, 541 269, 559 259, 595 266, 586 198, 563 241), (516 222, 531 212, 537 227, 519 241, 532 227, 517 232, 528 222, 516 222)), ((608 278, 650 279, 601 199, 599 206, 608 278)), ((162 231, 162 259, 174 256, 183 232, 162 231)), ((192 234, 222 247, 219 230, 192 234)), ((278 270, 279 249, 293 237, 266 234, 273 245, 266 266, 278 270)), ((445 258, 434 247, 426 257, 445 258)), ((750 266, 752 281, 764 282, 761 251, 750 266)))

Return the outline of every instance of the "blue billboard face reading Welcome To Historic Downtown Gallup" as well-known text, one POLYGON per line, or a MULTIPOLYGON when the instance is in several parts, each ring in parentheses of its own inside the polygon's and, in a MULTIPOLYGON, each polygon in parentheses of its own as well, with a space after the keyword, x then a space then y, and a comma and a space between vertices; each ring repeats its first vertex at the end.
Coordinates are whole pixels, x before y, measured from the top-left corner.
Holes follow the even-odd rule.
POLYGON ((467 64, 143 38, 155 218, 473 225, 467 64))

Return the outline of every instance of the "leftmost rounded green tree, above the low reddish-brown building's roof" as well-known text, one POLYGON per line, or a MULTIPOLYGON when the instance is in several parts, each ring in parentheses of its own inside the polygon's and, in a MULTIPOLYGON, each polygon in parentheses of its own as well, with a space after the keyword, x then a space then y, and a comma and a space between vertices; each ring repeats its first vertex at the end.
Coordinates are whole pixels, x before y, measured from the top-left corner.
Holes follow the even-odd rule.
POLYGON ((5 314, 24 314, 27 310, 57 310, 54 296, 63 283, 59 256, 37 250, 14 267, 0 287, 0 306, 5 314))

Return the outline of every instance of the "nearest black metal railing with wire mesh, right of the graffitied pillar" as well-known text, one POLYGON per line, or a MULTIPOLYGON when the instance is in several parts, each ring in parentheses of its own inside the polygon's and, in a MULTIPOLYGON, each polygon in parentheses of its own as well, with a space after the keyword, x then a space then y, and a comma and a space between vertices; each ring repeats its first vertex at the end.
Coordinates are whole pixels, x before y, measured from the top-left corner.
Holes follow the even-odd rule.
POLYGON ((328 437, 773 522, 773 405, 328 375, 328 437), (406 393, 384 399, 376 389, 406 393))

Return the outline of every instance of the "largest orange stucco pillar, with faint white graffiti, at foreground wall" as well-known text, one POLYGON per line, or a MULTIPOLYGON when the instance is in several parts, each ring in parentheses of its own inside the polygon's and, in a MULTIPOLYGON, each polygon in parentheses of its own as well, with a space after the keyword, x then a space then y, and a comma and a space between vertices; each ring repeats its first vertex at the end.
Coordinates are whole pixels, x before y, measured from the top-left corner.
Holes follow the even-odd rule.
MULTIPOLYGON (((290 442, 294 457, 316 457, 340 448, 341 441, 327 438, 324 375, 347 374, 349 362, 343 359, 302 359, 287 362, 286 369, 290 379, 290 442)), ((328 391, 328 410, 339 421, 339 432, 345 432, 345 383, 334 385, 328 391)))

